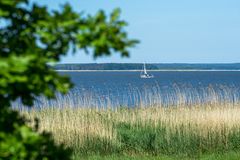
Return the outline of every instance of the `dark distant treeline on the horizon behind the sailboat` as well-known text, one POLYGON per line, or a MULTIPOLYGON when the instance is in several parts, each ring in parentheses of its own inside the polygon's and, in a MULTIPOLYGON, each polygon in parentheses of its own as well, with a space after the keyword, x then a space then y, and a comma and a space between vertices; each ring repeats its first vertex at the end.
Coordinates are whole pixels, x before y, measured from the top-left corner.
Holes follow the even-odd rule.
MULTIPOLYGON (((141 70, 142 63, 85 63, 55 64, 56 70, 141 70)), ((240 63, 226 64, 188 64, 188 63, 152 63, 148 70, 240 70, 240 63)))

